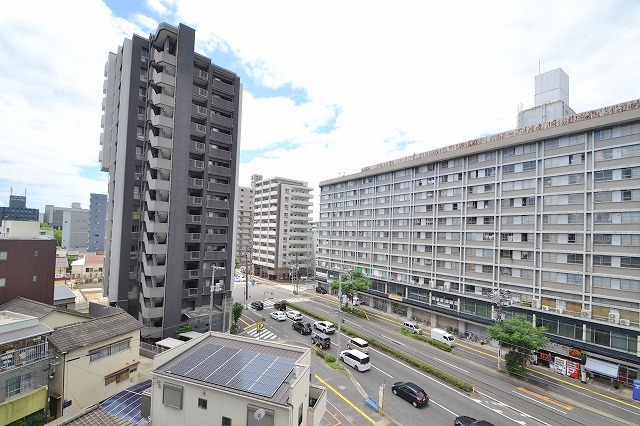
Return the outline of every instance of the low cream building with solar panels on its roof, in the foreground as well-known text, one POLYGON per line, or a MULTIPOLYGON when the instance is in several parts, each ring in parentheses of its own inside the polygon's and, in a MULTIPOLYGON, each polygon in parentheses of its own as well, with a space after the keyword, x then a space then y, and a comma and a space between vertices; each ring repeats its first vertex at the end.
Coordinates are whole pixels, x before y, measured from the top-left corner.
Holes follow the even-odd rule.
POLYGON ((154 358, 151 421, 317 426, 327 395, 311 384, 310 365, 309 348, 204 334, 154 358))

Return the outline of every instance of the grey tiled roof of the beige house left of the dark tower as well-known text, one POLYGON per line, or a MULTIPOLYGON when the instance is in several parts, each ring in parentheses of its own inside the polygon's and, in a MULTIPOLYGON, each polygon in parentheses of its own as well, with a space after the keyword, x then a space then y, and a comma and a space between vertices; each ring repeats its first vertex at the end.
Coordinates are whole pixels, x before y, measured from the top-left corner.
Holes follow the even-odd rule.
POLYGON ((125 311, 121 311, 117 314, 57 328, 49 336, 49 342, 64 353, 141 328, 142 324, 138 320, 125 311))

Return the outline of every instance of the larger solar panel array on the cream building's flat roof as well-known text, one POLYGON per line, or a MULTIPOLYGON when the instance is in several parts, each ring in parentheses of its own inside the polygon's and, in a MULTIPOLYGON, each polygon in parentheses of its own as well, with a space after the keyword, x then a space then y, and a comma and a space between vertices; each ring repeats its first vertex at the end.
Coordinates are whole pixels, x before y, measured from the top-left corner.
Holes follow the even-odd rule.
POLYGON ((167 373, 272 397, 293 365, 291 358, 206 344, 175 363, 167 373))

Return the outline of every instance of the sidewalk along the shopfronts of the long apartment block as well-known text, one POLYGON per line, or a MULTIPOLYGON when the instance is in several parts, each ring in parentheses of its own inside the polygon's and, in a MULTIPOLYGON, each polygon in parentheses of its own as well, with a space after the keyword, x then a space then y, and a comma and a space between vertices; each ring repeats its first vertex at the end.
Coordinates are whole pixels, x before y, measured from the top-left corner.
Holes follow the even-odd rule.
MULTIPOLYGON (((392 320, 396 320, 398 322, 401 322, 403 320, 406 320, 406 318, 404 318, 401 315, 398 314, 390 314, 387 312, 383 312, 381 310, 378 309, 374 309, 371 308, 369 306, 359 306, 359 308, 367 313, 374 313, 376 315, 379 316, 383 316, 387 319, 392 319, 392 320)), ((426 331, 429 331, 434 328, 430 325, 426 325, 424 323, 420 323, 420 326, 426 331)), ((461 344, 464 344, 466 346, 470 346, 473 348, 477 348, 478 350, 481 351, 486 351, 486 352, 491 352, 493 353, 496 357, 498 356, 498 346, 494 345, 492 343, 489 344, 485 344, 485 345, 481 345, 478 342, 472 342, 470 340, 461 340, 460 341, 461 344)), ((504 359, 504 355, 505 355, 506 351, 503 350, 502 351, 502 356, 504 359)), ((595 392, 598 394, 602 394, 606 397, 609 398, 614 398, 614 399, 619 399, 621 401, 624 401, 626 403, 630 403, 632 405, 636 405, 636 406, 640 406, 640 401, 633 399, 633 394, 632 394, 632 388, 630 386, 621 386, 619 389, 615 389, 613 387, 613 384, 609 381, 609 380, 605 380, 605 379, 589 379, 587 383, 582 383, 579 379, 574 379, 571 378, 567 375, 561 375, 556 373, 555 371, 544 367, 544 366, 540 366, 540 365, 532 365, 532 364, 527 364, 527 370, 530 371, 537 371, 541 374, 545 374, 546 376, 555 379, 555 380, 559 380, 559 381, 563 381, 566 383, 569 383, 573 386, 577 386, 580 388, 583 388, 585 390, 591 391, 591 392, 595 392)), ((502 374, 504 374, 506 377, 509 377, 505 372, 502 372, 502 374)), ((518 380, 516 378, 511 378, 513 380, 518 380)), ((542 386, 539 383, 539 379, 537 379, 535 376, 529 374, 525 380, 526 383, 528 384, 532 384, 534 386, 538 386, 541 389, 544 388, 544 386, 542 386)))

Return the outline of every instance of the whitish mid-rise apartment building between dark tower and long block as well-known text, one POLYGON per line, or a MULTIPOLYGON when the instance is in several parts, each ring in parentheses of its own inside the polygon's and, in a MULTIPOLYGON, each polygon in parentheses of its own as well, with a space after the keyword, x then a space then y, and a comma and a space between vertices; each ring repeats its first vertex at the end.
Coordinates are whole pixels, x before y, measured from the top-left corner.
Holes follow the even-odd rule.
POLYGON ((311 189, 298 180, 257 176, 252 178, 254 273, 294 283, 313 269, 311 189))

